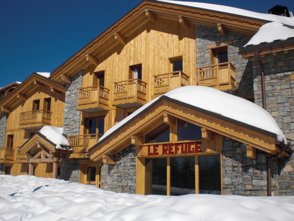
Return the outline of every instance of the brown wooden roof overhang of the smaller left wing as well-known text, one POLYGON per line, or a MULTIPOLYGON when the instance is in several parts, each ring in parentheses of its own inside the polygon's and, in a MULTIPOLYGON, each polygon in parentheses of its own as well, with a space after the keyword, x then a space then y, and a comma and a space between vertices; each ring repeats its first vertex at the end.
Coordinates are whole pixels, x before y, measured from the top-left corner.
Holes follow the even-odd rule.
POLYGON ((44 85, 50 87, 51 91, 54 93, 65 93, 65 86, 63 84, 34 72, 0 101, 0 115, 3 112, 9 112, 9 110, 21 100, 26 100, 26 96, 29 95, 29 93, 44 85))

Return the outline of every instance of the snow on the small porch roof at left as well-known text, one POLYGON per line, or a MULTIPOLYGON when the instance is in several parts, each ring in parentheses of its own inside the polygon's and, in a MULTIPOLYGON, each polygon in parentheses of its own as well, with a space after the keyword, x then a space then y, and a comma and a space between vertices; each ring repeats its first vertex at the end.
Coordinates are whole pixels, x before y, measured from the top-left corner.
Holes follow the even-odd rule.
POLYGON ((62 134, 62 127, 44 126, 39 133, 43 134, 48 140, 56 144, 56 149, 69 149, 69 141, 62 134))

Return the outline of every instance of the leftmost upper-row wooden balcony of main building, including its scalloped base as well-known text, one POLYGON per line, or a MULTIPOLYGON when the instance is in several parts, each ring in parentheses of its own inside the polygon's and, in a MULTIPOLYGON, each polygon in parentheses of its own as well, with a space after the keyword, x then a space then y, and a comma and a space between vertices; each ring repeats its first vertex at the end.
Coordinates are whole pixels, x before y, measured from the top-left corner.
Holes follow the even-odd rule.
POLYGON ((88 113, 108 110, 109 91, 100 85, 79 88, 76 109, 88 113))

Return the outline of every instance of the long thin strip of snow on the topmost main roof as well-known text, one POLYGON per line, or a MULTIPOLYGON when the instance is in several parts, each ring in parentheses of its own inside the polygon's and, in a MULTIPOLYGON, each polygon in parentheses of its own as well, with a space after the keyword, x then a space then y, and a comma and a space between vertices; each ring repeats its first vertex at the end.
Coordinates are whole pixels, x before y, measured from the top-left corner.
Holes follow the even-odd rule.
POLYGON ((200 2, 189 2, 189 1, 170 1, 170 0, 158 0, 163 1, 166 3, 172 3, 172 4, 178 4, 178 5, 185 5, 200 9, 208 9, 213 11, 219 11, 234 15, 240 15, 245 16, 249 18, 255 18, 255 19, 262 19, 272 22, 281 22, 283 24, 293 25, 294 26, 294 19, 290 17, 283 17, 278 16, 274 14, 264 14, 264 13, 258 13, 254 11, 248 11, 244 9, 238 9, 230 6, 224 6, 224 5, 217 5, 217 4, 208 4, 208 3, 200 3, 200 2))

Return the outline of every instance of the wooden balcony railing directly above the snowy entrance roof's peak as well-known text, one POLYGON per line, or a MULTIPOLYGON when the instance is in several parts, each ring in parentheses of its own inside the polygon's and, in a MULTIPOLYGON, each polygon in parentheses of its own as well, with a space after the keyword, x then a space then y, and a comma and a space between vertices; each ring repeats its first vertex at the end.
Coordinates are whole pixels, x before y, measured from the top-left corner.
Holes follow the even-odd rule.
POLYGON ((155 75, 154 77, 154 95, 166 93, 170 90, 187 86, 189 76, 182 71, 155 75))

